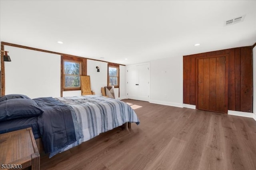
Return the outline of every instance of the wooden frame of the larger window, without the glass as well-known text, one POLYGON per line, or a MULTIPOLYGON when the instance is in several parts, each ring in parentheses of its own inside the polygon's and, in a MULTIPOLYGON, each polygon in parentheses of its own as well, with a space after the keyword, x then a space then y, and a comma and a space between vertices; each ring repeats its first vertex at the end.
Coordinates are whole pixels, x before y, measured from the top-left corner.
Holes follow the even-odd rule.
POLYGON ((65 87, 65 73, 64 73, 64 61, 70 61, 74 63, 80 63, 80 75, 87 75, 87 59, 83 57, 76 57, 71 55, 61 55, 61 64, 60 64, 60 85, 61 85, 61 93, 60 96, 62 97, 63 91, 76 91, 81 90, 81 82, 80 87, 65 87))

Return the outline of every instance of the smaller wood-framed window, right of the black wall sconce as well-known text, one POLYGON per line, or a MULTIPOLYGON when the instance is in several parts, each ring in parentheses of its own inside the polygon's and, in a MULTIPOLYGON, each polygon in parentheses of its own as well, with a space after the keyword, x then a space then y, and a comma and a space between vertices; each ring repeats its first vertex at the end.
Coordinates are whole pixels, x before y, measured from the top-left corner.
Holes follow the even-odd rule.
POLYGON ((119 87, 119 65, 108 63, 108 86, 119 87))

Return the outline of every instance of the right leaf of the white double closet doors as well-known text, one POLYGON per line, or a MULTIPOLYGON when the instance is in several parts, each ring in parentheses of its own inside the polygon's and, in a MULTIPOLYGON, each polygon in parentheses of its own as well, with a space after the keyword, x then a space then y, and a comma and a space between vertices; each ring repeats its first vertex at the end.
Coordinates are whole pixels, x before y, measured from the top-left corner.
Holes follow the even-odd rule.
POLYGON ((139 65, 139 82, 138 82, 138 100, 149 101, 149 79, 150 79, 150 70, 149 64, 139 65))

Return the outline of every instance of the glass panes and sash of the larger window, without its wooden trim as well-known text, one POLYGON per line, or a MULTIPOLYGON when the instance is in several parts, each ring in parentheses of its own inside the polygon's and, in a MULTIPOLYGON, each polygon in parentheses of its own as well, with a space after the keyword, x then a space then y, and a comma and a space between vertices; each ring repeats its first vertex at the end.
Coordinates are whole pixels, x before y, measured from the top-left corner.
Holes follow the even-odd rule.
POLYGON ((64 88, 80 87, 81 63, 64 61, 64 88))

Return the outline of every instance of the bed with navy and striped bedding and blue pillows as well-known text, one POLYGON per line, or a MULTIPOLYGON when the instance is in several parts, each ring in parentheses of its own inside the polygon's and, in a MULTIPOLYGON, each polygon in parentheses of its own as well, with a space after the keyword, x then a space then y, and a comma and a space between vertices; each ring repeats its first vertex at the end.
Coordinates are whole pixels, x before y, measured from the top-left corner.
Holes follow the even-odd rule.
POLYGON ((126 123, 140 124, 134 110, 123 101, 98 95, 0 97, 0 134, 32 127, 50 158, 126 123))

